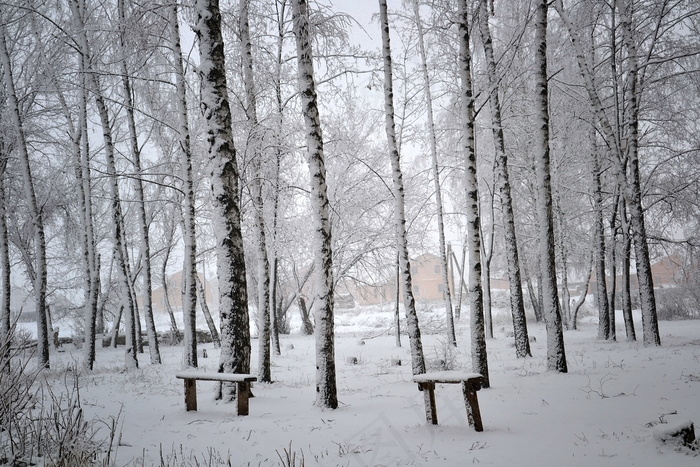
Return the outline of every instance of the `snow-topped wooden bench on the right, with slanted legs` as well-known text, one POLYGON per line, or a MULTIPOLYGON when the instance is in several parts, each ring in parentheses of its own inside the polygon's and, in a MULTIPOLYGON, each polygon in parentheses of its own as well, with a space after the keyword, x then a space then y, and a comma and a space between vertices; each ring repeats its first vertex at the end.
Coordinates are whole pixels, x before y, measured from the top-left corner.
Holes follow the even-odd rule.
POLYGON ((467 407, 467 421, 476 431, 484 431, 481 423, 481 411, 476 391, 481 389, 484 377, 479 373, 466 373, 461 371, 437 371, 414 375, 413 381, 418 383, 418 390, 427 391, 428 398, 425 401, 425 418, 433 425, 437 425, 437 408, 435 407, 435 384, 462 384, 464 404, 467 407))

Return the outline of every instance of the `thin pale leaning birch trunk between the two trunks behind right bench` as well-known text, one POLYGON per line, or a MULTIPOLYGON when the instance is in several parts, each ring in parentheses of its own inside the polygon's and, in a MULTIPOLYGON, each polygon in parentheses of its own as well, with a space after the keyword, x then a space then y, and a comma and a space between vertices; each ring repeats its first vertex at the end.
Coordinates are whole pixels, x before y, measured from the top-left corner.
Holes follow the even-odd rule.
POLYGON ((445 242, 445 219, 442 205, 442 188, 440 187, 440 169, 437 155, 437 136, 435 134, 435 118, 433 116, 433 96, 430 91, 430 75, 428 73, 428 55, 425 51, 423 23, 420 18, 418 0, 413 0, 413 16, 418 29, 418 52, 421 59, 421 72, 423 75, 423 89, 425 95, 425 108, 428 118, 428 139, 430 141, 430 158, 432 162, 433 181, 435 186, 435 204, 437 208, 438 247, 440 249, 440 269, 442 270, 442 282, 445 286, 445 318, 447 323, 447 338, 450 344, 457 346, 455 335, 454 315, 452 312, 452 294, 450 293, 449 267, 445 242))

